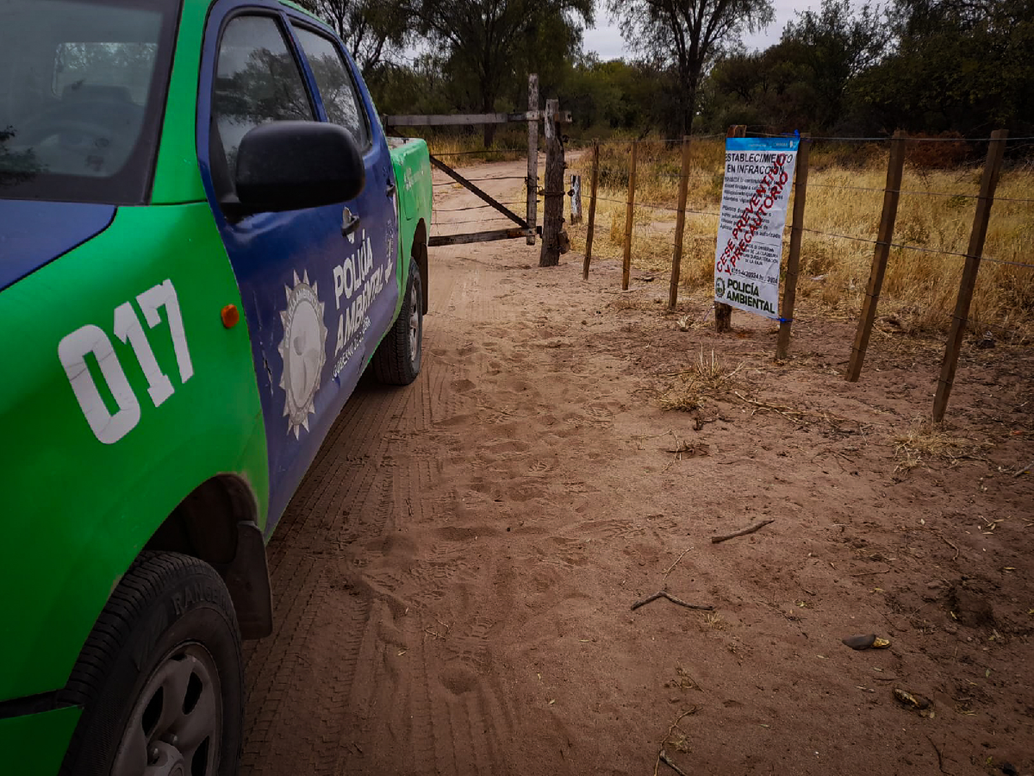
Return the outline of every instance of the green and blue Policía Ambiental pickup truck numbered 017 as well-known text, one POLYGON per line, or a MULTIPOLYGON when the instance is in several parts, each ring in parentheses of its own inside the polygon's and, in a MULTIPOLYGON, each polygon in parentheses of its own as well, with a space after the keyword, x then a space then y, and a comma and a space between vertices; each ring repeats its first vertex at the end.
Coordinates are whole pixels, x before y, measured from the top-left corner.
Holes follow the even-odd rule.
POLYGON ((0 773, 236 773, 265 541, 421 366, 431 180, 273 0, 0 0, 0 773))

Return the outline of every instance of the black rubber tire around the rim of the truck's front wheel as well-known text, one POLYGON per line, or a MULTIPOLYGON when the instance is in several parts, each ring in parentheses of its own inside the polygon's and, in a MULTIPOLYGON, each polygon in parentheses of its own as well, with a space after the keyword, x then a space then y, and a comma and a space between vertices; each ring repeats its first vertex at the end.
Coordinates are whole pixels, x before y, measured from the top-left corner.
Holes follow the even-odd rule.
POLYGON ((63 703, 83 707, 61 776, 111 772, 138 698, 165 658, 184 645, 204 648, 218 675, 222 725, 212 776, 237 773, 244 675, 230 592, 204 561, 145 551, 109 597, 61 692, 63 703))

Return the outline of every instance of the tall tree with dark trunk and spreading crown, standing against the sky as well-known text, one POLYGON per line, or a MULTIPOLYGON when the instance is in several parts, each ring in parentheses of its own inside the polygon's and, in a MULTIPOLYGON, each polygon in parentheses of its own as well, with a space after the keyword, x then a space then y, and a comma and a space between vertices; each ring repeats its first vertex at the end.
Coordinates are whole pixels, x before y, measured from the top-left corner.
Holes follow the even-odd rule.
POLYGON ((744 31, 772 19, 771 0, 607 0, 626 42, 659 68, 674 86, 671 128, 693 130, 701 79, 744 31))

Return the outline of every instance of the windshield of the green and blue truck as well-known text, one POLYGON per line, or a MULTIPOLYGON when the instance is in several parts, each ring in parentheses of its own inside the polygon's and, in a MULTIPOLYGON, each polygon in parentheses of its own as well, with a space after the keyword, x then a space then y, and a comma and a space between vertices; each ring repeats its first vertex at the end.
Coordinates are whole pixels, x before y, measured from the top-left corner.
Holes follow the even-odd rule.
POLYGON ((0 198, 147 201, 179 0, 0 0, 0 198))

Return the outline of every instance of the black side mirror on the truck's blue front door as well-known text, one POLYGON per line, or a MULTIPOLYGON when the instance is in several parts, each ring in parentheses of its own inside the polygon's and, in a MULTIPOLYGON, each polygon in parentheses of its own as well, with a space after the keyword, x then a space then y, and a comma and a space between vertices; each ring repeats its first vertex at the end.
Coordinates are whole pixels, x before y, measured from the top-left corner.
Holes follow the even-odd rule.
POLYGON ((234 215, 347 202, 366 183, 363 157, 342 126, 271 121, 252 128, 237 151, 234 215))

